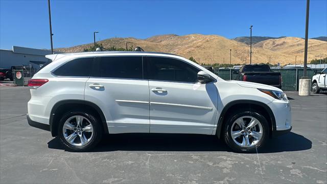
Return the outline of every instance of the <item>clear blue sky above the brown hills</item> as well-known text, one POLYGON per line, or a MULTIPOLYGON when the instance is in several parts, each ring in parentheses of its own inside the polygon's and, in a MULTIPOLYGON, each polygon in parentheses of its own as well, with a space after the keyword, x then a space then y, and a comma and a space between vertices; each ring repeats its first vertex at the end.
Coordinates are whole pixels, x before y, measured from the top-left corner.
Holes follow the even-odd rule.
MULTIPOLYGON (((327 36, 327 1, 310 1, 309 38, 327 36)), ((110 37, 305 36, 306 1, 51 1, 54 48, 110 37)), ((0 48, 50 49, 48 2, 0 0, 0 48)))

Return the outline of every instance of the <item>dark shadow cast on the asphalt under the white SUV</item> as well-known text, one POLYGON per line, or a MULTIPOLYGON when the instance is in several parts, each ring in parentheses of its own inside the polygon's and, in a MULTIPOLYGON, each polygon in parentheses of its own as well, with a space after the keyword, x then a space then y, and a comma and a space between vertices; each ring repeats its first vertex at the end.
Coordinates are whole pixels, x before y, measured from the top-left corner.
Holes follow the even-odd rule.
MULTIPOLYGON (((63 149, 59 139, 48 142, 51 149, 63 149)), ((308 150, 312 142, 306 137, 290 132, 269 139, 259 153, 308 150)), ((149 134, 124 133, 103 137, 100 144, 90 152, 108 151, 227 151, 231 152, 222 140, 213 135, 198 134, 149 134)))

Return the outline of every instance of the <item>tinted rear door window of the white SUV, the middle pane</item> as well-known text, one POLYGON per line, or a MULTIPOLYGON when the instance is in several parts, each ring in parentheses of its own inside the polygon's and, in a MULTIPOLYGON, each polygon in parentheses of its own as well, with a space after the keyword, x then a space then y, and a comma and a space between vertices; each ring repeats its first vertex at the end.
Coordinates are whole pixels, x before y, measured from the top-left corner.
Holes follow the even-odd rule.
POLYGON ((112 56, 96 58, 91 76, 143 79, 142 57, 112 56))

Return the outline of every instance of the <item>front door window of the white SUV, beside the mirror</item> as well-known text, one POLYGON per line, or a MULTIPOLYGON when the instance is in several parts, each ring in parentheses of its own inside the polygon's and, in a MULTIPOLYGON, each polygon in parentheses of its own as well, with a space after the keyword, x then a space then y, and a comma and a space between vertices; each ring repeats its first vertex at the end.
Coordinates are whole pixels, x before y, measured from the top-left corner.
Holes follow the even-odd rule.
POLYGON ((150 80, 197 82, 198 68, 186 62, 165 57, 147 57, 150 80))

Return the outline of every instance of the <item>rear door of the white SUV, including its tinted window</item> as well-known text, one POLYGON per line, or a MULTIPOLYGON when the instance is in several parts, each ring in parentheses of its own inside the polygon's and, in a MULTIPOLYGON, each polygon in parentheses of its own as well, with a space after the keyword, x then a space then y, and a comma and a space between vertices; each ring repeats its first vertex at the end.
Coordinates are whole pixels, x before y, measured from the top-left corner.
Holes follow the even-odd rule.
POLYGON ((149 132, 149 86, 143 58, 97 57, 85 85, 85 100, 102 109, 109 133, 149 132))

